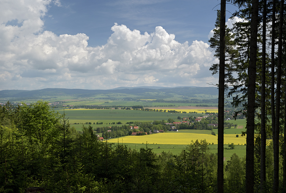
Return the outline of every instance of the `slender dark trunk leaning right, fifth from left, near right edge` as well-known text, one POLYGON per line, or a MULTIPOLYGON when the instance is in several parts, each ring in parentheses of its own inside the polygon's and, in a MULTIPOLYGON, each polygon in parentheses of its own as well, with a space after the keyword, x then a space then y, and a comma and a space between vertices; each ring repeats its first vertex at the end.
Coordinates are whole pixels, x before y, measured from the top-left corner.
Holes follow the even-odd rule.
POLYGON ((280 2, 279 12, 279 36, 278 36, 278 52, 277 52, 277 80, 276 80, 276 112, 275 112, 275 134, 273 137, 273 154, 274 154, 274 176, 273 176, 273 192, 279 189, 279 127, 280 127, 280 91, 281 91, 281 63, 282 63, 282 33, 283 33, 283 12, 284 0, 280 2))

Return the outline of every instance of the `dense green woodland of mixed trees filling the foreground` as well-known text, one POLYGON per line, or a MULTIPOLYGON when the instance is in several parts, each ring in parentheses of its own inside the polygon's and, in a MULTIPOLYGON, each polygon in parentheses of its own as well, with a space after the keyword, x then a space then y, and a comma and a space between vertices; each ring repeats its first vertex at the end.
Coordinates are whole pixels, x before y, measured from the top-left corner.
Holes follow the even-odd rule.
MULTIPOLYGON (((205 140, 180 155, 131 150, 101 142, 92 126, 77 132, 47 102, 0 109, 0 192, 216 192, 217 155, 205 140)), ((158 121, 158 125, 160 121, 158 121)), ((259 144, 256 144, 259 160, 259 144)), ((267 190, 271 189, 272 144, 267 146, 267 190)), ((257 162, 258 163, 258 162, 257 162)), ((245 191, 245 158, 225 163, 225 191, 245 191)), ((259 173, 259 165, 255 167, 259 173)), ((259 177, 256 177, 257 181, 259 177)), ((256 190, 259 184, 255 186, 256 190)))

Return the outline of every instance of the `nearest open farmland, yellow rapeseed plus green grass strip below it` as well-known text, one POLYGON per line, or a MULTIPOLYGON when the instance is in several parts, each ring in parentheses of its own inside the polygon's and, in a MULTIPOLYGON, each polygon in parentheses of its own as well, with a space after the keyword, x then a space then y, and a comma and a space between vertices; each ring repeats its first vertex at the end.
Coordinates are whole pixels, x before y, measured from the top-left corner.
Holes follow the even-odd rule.
MULTIPOLYGON (((195 142, 197 139, 199 141, 206 139, 206 142, 208 142, 208 144, 210 143, 208 145, 209 152, 217 153, 217 136, 212 136, 210 133, 210 130, 180 130, 179 132, 152 134, 145 136, 145 138, 142 138, 144 136, 129 136, 129 138, 127 138, 128 136, 125 136, 121 138, 110 139, 108 140, 108 143, 114 143, 114 145, 118 143, 124 144, 131 149, 146 148, 147 143, 148 148, 151 148, 153 152, 158 155, 162 152, 172 152, 173 155, 179 155, 192 141, 195 142), (155 140, 156 138, 161 139, 153 142, 152 140, 155 140), (135 142, 134 139, 136 139, 135 142), (165 139, 165 141, 163 141, 163 139, 165 139), (214 144, 212 144, 212 142, 214 144)), ((235 136, 235 134, 229 134, 225 136, 224 157, 226 161, 230 160, 230 157, 234 153, 236 153, 239 157, 245 156, 245 137, 239 136, 237 138, 235 136), (235 149, 233 150, 229 148, 229 144, 231 143, 235 144, 235 149)))

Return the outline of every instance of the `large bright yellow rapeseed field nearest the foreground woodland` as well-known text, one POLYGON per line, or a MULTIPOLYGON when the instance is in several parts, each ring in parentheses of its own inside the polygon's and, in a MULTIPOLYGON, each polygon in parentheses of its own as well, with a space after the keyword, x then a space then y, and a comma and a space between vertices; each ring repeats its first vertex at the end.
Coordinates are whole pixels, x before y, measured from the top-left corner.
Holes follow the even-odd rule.
MULTIPOLYGON (((120 143, 133 143, 133 144, 190 144, 191 141, 195 142, 196 140, 206 140, 206 142, 212 144, 217 144, 217 136, 210 134, 194 134, 194 133, 180 133, 180 132, 172 132, 172 133, 158 133, 152 135, 144 135, 144 136, 125 136, 119 139, 111 139, 108 142, 117 143, 118 140, 120 143)), ((236 137, 236 134, 226 134, 224 135, 224 143, 235 145, 244 145, 246 144, 246 136, 244 137, 236 137)))

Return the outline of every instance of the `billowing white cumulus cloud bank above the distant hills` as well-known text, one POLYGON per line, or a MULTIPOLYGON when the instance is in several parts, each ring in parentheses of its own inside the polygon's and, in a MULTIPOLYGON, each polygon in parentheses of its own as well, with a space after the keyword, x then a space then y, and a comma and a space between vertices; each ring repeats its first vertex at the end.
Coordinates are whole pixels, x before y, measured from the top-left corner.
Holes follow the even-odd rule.
POLYGON ((44 17, 58 0, 5 1, 0 6, 0 84, 3 89, 119 86, 209 86, 216 63, 207 43, 179 43, 158 26, 153 33, 117 23, 107 43, 88 46, 84 33, 44 31, 44 17))

